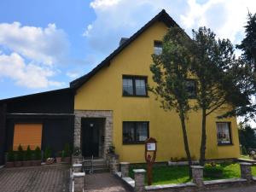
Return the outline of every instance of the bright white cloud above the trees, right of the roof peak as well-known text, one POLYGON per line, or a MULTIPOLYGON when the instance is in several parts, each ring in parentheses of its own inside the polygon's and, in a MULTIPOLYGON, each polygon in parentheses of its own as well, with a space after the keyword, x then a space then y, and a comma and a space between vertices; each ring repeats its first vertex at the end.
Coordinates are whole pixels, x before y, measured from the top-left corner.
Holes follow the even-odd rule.
POLYGON ((188 3, 189 11, 181 15, 186 29, 207 26, 219 38, 230 38, 234 44, 239 43, 244 35, 247 9, 256 12, 256 2, 252 0, 209 0, 206 3, 188 0, 188 3))

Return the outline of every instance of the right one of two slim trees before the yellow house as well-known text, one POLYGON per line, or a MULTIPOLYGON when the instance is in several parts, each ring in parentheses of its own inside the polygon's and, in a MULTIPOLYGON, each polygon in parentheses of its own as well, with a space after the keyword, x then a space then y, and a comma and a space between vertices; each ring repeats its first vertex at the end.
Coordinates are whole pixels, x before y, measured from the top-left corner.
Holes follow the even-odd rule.
POLYGON ((216 39, 215 34, 206 27, 193 30, 195 63, 192 72, 197 80, 197 109, 201 110, 201 157, 203 166, 207 144, 207 117, 220 109, 230 110, 244 105, 247 96, 241 93, 237 80, 241 79, 240 61, 236 59, 233 45, 228 39, 216 39), (236 77, 236 76, 238 77, 236 77))

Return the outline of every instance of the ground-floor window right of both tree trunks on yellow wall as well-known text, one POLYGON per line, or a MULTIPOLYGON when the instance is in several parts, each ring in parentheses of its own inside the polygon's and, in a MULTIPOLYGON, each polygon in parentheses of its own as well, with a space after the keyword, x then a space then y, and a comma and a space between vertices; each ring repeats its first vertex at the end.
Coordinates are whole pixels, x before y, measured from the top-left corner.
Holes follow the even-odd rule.
POLYGON ((231 144, 230 122, 218 122, 216 125, 218 144, 231 144))

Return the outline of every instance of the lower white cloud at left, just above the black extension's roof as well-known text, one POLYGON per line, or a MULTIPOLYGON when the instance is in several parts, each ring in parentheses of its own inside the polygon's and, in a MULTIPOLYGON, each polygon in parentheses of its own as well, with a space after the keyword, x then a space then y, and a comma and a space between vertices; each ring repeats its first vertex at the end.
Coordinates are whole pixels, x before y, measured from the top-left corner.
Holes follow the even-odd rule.
POLYGON ((17 53, 0 54, 0 77, 13 79, 20 86, 35 89, 63 85, 61 82, 49 80, 54 74, 51 67, 26 63, 17 53))

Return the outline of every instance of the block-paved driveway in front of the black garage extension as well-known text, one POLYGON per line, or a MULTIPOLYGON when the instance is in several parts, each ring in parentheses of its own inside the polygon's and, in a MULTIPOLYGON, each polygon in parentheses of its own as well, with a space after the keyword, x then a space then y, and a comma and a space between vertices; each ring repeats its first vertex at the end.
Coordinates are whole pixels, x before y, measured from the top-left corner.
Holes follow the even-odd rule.
POLYGON ((0 169, 0 192, 68 192, 69 166, 0 169))

